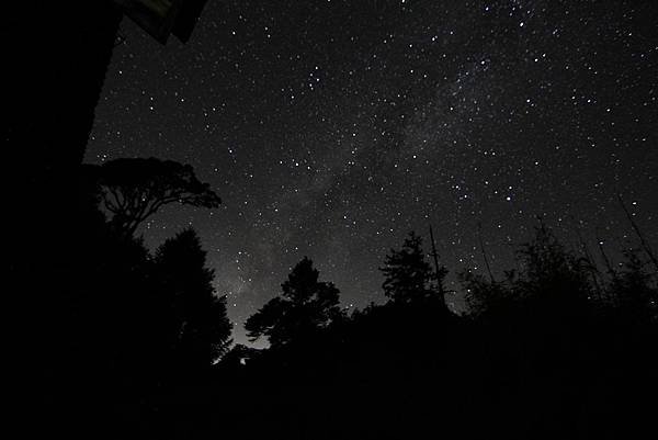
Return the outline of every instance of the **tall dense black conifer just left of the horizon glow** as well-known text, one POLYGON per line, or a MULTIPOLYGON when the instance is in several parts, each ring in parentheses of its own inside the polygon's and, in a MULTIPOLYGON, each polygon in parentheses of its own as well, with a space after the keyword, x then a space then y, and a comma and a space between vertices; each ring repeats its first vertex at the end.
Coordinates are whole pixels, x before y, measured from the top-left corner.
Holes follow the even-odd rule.
POLYGON ((169 338, 174 363, 183 371, 209 368, 230 342, 226 296, 213 287, 214 271, 193 229, 164 241, 155 256, 159 293, 169 309, 169 338))

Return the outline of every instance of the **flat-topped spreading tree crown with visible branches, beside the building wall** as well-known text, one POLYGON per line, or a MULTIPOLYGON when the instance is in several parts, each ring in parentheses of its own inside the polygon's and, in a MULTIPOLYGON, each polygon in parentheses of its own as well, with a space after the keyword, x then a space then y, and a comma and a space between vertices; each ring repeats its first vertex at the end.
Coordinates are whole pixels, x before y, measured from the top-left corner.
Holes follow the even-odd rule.
POLYGON ((151 157, 115 159, 89 167, 102 189, 103 206, 113 214, 112 224, 125 235, 133 235, 145 219, 170 203, 208 208, 222 203, 190 165, 151 157))

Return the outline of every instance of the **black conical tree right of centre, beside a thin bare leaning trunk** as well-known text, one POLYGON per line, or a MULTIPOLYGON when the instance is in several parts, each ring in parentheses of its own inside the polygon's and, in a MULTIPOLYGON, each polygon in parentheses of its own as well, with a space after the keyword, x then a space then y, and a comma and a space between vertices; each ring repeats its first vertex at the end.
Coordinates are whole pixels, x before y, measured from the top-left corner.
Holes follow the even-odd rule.
MULTIPOLYGON (((426 260, 422 238, 413 232, 405 238, 400 250, 390 250, 390 255, 386 256, 385 266, 379 270, 385 277, 382 285, 384 294, 396 303, 427 298, 435 293, 432 281, 436 277, 426 260)), ((440 271, 439 277, 445 277, 445 271, 440 271)), ((436 285, 441 285, 441 282, 442 280, 439 280, 436 285)))

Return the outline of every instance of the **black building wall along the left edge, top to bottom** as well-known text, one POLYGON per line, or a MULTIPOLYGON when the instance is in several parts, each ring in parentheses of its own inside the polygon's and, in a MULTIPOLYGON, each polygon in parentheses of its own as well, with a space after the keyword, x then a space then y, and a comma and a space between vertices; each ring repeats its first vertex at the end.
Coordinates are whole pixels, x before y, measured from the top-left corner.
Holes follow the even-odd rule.
POLYGON ((58 376, 68 360, 57 347, 65 342, 60 305, 76 284, 78 169, 122 14, 102 0, 10 3, 2 7, 1 26, 3 250, 11 286, 3 302, 3 363, 10 370, 5 398, 29 419, 10 418, 31 437, 54 435, 58 420, 67 425, 60 416, 76 413, 70 405, 54 410, 48 402, 67 392, 58 376))

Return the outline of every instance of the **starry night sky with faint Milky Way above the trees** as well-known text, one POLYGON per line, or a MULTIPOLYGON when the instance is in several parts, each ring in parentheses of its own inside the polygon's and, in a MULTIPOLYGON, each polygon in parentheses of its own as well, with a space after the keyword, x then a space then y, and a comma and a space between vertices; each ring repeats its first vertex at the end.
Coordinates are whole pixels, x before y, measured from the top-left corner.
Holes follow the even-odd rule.
POLYGON ((656 246, 657 23, 649 0, 211 0, 162 46, 124 19, 86 160, 211 182, 220 208, 140 234, 200 233, 238 342, 304 256, 345 307, 383 301, 384 256, 430 223, 453 274, 483 270, 478 237, 514 267, 536 216, 634 246, 617 193, 656 246))

